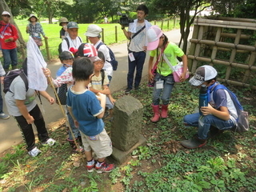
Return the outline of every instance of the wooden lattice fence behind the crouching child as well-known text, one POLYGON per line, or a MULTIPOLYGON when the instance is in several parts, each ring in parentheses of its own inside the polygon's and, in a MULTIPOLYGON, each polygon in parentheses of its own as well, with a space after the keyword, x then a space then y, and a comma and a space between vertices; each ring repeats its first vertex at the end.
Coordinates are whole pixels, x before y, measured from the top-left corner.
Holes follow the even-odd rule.
POLYGON ((256 89, 255 32, 255 19, 196 18, 188 54, 190 71, 214 66, 219 82, 256 89))

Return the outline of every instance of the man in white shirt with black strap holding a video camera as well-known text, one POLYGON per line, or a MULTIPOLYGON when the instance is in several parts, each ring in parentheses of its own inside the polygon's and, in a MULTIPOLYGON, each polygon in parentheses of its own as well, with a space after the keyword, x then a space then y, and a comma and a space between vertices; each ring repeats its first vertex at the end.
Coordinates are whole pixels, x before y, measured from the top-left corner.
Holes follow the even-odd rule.
POLYGON ((145 18, 149 14, 149 10, 145 5, 140 5, 137 8, 137 19, 131 22, 128 31, 125 26, 122 26, 123 33, 126 38, 130 40, 128 46, 128 74, 127 74, 127 88, 126 94, 130 90, 138 90, 139 83, 142 80, 142 70, 146 58, 146 31, 150 28, 151 24, 145 18), (134 71, 136 68, 136 75, 134 78, 134 71))

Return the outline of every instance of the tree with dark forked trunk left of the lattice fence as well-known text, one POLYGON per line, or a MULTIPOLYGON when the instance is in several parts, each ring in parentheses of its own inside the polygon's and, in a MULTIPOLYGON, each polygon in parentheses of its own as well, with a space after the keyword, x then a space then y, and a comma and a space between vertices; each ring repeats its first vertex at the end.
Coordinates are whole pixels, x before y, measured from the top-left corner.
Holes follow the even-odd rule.
POLYGON ((180 33, 182 37, 178 46, 182 46, 182 50, 186 53, 187 50, 187 39, 190 34, 190 26, 194 22, 194 18, 198 13, 204 10, 206 7, 210 6, 211 0, 190 0, 190 1, 181 1, 181 0, 171 0, 171 1, 162 1, 162 0, 153 0, 150 5, 150 11, 155 10, 156 12, 161 12, 168 14, 170 16, 178 15, 180 18, 180 33), (208 3, 208 4, 206 4, 208 3), (190 16, 190 10, 194 10, 194 15, 190 16))

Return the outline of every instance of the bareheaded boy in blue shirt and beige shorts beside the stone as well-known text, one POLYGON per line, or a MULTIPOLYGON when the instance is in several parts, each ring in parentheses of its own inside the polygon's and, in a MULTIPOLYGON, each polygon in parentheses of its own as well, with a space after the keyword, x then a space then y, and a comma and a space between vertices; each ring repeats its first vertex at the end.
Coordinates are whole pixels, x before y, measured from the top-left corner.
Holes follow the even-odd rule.
POLYGON ((72 75, 75 84, 68 90, 66 104, 75 126, 81 133, 87 160, 86 168, 88 172, 94 169, 98 173, 110 172, 114 169, 114 164, 107 164, 105 158, 112 154, 112 142, 102 121, 106 95, 98 93, 96 96, 86 88, 90 78, 94 76, 93 62, 88 58, 75 59, 72 75), (94 161, 92 150, 98 157, 97 162, 94 161))

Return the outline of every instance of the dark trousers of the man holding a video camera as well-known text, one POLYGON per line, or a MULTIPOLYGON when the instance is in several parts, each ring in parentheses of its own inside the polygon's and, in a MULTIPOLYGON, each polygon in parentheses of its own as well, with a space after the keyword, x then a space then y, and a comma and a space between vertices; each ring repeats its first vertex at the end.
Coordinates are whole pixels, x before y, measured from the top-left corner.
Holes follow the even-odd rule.
POLYGON ((143 65, 146 58, 146 52, 144 51, 132 52, 132 53, 134 54, 135 60, 131 62, 130 58, 128 57, 128 74, 127 74, 127 87, 130 89, 133 88, 133 84, 135 87, 139 86, 139 83, 142 80, 142 70, 143 70, 143 65), (135 68, 136 68, 136 75, 134 78, 135 68))

